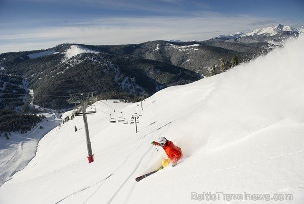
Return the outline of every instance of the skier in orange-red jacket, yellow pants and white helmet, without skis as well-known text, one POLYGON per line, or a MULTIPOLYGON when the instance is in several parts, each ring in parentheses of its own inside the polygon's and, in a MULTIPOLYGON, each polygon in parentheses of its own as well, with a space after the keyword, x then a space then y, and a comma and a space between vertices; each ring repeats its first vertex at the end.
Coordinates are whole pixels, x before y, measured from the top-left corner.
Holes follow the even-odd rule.
POLYGON ((152 145, 161 146, 169 159, 164 159, 162 161, 163 167, 166 167, 172 162, 172 166, 175 166, 178 160, 183 156, 182 149, 173 144, 172 141, 167 140, 165 137, 160 137, 158 141, 153 141, 152 145))

